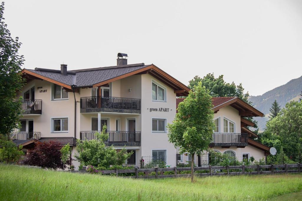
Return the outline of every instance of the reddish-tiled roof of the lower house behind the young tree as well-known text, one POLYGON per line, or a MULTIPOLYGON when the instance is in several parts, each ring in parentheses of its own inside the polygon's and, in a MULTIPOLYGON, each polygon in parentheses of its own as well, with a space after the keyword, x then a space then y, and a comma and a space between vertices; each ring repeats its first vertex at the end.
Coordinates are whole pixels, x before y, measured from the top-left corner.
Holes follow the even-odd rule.
MULTIPOLYGON (((178 104, 182 102, 184 98, 176 99, 176 108, 178 104)), ((233 108, 239 111, 240 116, 246 117, 263 117, 263 113, 257 110, 256 108, 252 107, 248 103, 244 102, 243 100, 239 99, 238 97, 213 97, 212 98, 213 110, 216 113, 219 109, 230 105, 233 108)), ((245 121, 247 125, 253 124, 248 120, 245 121)), ((253 125, 252 125, 253 126, 253 125)))

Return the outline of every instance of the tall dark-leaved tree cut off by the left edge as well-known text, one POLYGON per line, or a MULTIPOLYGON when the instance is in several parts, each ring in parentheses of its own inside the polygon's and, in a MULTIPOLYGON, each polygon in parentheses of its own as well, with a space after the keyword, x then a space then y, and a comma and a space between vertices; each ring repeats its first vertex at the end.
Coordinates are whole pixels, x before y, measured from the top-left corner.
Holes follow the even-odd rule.
POLYGON ((0 135, 7 135, 19 125, 21 101, 14 101, 24 85, 24 79, 18 72, 24 59, 18 55, 21 46, 18 37, 11 38, 3 18, 4 2, 0 5, 0 135))

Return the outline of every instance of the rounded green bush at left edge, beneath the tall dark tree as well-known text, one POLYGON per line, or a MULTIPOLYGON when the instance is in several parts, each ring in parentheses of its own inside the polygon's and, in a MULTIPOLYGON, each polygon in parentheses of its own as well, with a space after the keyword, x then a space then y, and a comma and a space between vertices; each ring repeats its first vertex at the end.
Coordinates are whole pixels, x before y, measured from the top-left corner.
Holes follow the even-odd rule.
POLYGON ((0 140, 0 161, 16 162, 21 155, 24 155, 22 145, 16 147, 11 140, 0 140))

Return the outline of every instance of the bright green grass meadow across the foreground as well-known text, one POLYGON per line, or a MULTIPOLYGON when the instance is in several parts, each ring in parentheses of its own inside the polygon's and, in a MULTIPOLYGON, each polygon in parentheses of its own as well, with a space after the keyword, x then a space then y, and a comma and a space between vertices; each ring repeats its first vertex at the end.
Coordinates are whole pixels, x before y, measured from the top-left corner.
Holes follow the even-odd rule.
POLYGON ((191 184, 190 178, 127 179, 0 165, 1 200, 269 200, 299 191, 302 174, 203 177, 191 184))

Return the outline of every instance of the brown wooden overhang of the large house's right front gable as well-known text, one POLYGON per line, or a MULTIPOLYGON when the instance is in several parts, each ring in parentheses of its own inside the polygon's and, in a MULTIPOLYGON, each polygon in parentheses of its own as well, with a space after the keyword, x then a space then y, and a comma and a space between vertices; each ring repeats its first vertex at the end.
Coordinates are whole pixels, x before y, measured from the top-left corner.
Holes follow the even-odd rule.
POLYGON ((129 77, 131 75, 137 75, 137 74, 149 74, 149 75, 155 77, 156 79, 158 79, 162 83, 164 83, 167 86, 174 89, 174 93, 176 93, 176 96, 188 96, 188 94, 189 94, 190 88, 188 86, 186 86, 183 83, 179 82, 174 77, 172 77, 171 75, 169 75, 166 72, 162 71, 160 68, 158 68, 154 64, 148 65, 144 68, 140 68, 136 71, 132 71, 132 72, 129 72, 129 73, 111 78, 109 80, 104 80, 102 82, 95 83, 94 85, 92 85, 92 87, 102 86, 104 84, 113 82, 115 80, 120 80, 120 79, 123 79, 125 77, 129 77))

